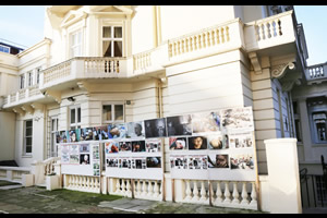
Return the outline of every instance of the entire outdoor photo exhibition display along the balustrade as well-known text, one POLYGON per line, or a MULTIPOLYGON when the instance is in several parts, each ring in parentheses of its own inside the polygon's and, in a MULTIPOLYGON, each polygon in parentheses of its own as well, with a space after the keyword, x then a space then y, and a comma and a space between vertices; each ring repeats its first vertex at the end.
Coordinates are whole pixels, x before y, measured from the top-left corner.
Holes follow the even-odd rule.
POLYGON ((252 107, 56 134, 63 173, 99 175, 104 162, 107 177, 159 180, 166 142, 172 179, 255 181, 257 177, 252 107))

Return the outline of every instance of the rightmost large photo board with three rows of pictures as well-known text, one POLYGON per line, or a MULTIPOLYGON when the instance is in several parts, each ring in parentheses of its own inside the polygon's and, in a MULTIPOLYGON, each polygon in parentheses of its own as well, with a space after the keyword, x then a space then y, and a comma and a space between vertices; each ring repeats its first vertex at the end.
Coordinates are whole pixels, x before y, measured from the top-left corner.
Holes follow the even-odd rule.
MULTIPOLYGON (((194 113, 190 119, 183 125, 186 134, 169 137, 172 179, 256 180, 252 107, 194 113)), ((175 128, 169 126, 167 118, 168 132, 173 133, 175 128)))

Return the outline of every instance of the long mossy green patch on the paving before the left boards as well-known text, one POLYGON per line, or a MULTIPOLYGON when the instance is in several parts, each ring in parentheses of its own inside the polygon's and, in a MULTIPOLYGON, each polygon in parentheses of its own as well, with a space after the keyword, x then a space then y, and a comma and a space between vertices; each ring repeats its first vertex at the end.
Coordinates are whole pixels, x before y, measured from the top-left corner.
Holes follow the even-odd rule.
POLYGON ((110 202, 110 201, 122 198, 122 196, 117 196, 117 195, 78 192, 78 191, 71 191, 64 189, 39 192, 38 194, 47 195, 47 196, 56 196, 56 198, 61 198, 68 202, 81 203, 81 204, 87 204, 94 206, 97 206, 100 202, 110 202))

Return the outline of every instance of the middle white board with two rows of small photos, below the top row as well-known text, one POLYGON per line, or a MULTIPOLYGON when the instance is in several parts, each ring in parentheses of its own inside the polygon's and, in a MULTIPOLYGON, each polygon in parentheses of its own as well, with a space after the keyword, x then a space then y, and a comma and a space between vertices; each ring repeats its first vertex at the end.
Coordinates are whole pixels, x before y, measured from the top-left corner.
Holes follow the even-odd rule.
POLYGON ((107 177, 164 178, 162 140, 109 140, 102 143, 107 177))

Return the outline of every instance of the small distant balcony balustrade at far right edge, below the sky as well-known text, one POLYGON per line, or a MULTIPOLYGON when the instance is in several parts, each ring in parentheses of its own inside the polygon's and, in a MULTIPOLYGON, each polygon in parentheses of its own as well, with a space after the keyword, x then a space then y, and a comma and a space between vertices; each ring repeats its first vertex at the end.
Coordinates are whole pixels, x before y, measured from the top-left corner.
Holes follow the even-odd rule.
POLYGON ((327 81, 327 63, 308 66, 305 70, 305 78, 308 85, 327 81))

